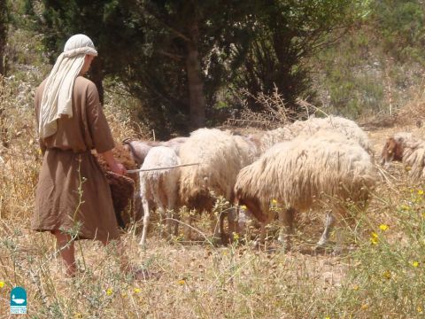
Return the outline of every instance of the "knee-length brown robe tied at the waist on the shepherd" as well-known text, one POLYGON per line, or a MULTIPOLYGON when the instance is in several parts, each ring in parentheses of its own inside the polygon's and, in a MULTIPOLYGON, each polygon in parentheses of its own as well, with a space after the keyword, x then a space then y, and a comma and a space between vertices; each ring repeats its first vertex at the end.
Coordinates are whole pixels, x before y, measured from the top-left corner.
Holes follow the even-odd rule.
MULTIPOLYGON (((35 92, 37 123, 44 85, 45 81, 35 92)), ((35 191, 31 229, 72 230, 78 227, 79 238, 118 238, 111 191, 90 152, 94 148, 102 153, 114 147, 93 82, 82 76, 75 79, 73 117, 60 118, 56 134, 42 139, 40 146, 44 157, 35 191)))

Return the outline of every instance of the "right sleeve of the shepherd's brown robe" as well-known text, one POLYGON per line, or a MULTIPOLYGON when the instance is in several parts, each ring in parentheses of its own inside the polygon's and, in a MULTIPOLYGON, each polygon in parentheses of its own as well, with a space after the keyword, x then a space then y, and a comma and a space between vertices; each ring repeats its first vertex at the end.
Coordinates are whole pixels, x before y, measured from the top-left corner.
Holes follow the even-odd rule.
POLYGON ((87 92, 86 107, 93 146, 98 153, 110 151, 114 148, 115 144, 113 142, 111 128, 109 128, 99 101, 99 94, 95 83, 89 83, 87 92))

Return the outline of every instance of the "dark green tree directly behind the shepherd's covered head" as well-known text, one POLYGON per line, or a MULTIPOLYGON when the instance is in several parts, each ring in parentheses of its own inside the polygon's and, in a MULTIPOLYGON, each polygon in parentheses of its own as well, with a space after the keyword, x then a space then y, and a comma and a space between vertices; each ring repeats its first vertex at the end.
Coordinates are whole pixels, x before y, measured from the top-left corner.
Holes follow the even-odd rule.
POLYGON ((36 2, 27 0, 27 12, 35 17, 33 27, 44 35, 52 63, 69 36, 83 33, 93 40, 99 56, 90 69, 90 78, 103 102, 105 76, 122 73, 128 60, 135 58, 134 39, 140 34, 128 21, 128 12, 115 0, 42 0, 42 12, 35 12, 36 2))

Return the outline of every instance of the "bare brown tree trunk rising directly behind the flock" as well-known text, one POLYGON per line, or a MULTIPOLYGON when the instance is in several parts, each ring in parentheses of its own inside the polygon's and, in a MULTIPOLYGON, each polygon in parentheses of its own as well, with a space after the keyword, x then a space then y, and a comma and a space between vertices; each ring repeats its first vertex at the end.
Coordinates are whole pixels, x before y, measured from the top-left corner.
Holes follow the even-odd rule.
POLYGON ((189 87, 189 117, 190 128, 205 127, 205 95, 202 78, 201 62, 197 50, 197 26, 192 27, 191 42, 187 43, 186 72, 189 87))

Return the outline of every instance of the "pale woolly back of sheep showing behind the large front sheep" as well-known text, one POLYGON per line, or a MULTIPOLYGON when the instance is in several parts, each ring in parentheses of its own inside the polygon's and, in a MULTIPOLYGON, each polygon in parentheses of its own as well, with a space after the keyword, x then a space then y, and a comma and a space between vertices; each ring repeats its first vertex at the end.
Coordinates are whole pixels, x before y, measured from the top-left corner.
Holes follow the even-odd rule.
POLYGON ((261 151, 265 152, 274 144, 290 141, 299 135, 313 135, 321 129, 340 132, 347 138, 357 141, 369 154, 373 154, 366 132, 359 128, 354 121, 339 116, 328 116, 327 118, 311 117, 306 121, 295 121, 282 128, 267 131, 261 136, 261 151))

